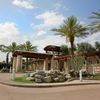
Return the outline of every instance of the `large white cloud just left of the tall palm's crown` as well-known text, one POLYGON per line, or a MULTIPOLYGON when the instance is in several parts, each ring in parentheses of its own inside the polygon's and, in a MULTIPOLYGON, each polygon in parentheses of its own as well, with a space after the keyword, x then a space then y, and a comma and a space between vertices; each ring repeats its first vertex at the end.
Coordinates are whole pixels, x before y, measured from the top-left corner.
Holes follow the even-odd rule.
POLYGON ((40 15, 37 15, 36 18, 43 21, 42 24, 36 25, 35 28, 37 28, 38 30, 47 30, 50 28, 57 27, 61 25, 63 20, 65 19, 64 16, 54 11, 44 12, 40 15))

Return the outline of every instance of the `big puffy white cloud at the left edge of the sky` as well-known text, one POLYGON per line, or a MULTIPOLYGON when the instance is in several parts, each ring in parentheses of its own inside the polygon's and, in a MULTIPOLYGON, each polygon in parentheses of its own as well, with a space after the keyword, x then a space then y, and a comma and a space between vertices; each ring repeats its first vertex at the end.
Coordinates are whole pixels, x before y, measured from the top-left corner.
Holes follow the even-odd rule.
POLYGON ((0 23, 0 43, 8 45, 13 41, 19 41, 20 31, 13 22, 0 23))

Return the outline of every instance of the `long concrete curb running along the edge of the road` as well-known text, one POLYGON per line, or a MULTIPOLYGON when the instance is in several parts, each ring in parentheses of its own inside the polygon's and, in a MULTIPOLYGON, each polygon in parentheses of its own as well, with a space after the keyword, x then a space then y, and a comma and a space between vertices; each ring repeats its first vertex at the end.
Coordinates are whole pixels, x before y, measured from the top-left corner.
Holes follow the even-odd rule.
POLYGON ((58 83, 58 84, 17 84, 2 82, 2 85, 14 86, 14 87, 24 87, 24 88, 46 88, 46 87, 62 87, 62 86, 79 86, 79 85, 100 85, 100 82, 82 82, 82 83, 58 83))

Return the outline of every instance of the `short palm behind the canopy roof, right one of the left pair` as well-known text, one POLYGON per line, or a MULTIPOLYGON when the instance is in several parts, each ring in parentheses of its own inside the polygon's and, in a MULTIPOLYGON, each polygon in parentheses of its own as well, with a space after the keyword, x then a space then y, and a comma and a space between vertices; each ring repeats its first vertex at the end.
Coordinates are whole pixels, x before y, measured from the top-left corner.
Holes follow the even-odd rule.
MULTIPOLYGON (((37 46, 33 46, 30 41, 26 41, 24 44, 19 45, 20 50, 25 51, 37 51, 37 46)), ((28 58, 26 58, 26 69, 28 66, 28 58)))

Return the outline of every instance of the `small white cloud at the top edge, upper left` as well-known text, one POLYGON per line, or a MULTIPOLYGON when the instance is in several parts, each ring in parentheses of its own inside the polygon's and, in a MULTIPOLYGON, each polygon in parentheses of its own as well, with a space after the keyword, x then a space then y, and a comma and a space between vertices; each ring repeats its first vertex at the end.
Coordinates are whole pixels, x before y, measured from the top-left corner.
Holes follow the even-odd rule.
POLYGON ((35 7, 30 0, 13 0, 12 4, 25 9, 33 9, 35 7))

